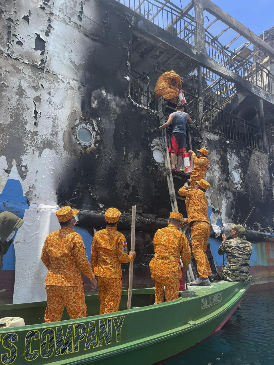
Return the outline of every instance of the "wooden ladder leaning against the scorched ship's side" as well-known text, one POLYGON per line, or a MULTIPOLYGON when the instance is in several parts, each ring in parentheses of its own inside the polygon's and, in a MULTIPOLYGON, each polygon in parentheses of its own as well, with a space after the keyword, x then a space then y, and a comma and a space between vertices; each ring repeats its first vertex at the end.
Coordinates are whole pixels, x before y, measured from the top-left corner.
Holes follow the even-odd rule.
MULTIPOLYGON (((163 97, 160 97, 158 99, 157 110, 158 110, 160 125, 163 125, 165 123, 165 110, 166 109, 171 113, 176 111, 176 109, 172 106, 172 104, 173 103, 169 103, 163 97)), ((176 172, 172 171, 171 164, 170 164, 170 157, 169 157, 169 153, 168 153, 168 138, 167 138, 166 128, 161 130, 161 134, 162 134, 163 149, 165 152, 164 153, 165 172, 167 175, 167 185, 168 185, 168 191, 169 191, 169 195, 170 195, 171 209, 173 212, 179 212, 177 200, 185 200, 185 198, 183 198, 181 196, 176 196, 173 178, 174 178, 174 175, 177 176, 178 174, 181 176, 187 177, 187 178, 189 176, 187 176, 184 173, 176 173, 176 172)), ((190 149, 191 149, 192 147, 191 147, 190 132, 189 132, 189 143, 190 143, 190 149)), ((191 163, 193 163, 192 158, 191 158, 191 163)), ((189 241, 189 244, 190 244, 190 249, 191 249, 191 261, 190 261, 190 265, 189 265, 189 270, 187 271, 187 280, 188 280, 188 282, 190 282, 190 281, 194 281, 199 276, 199 274, 197 272, 196 260, 194 259, 193 253, 192 253, 191 230, 188 229, 188 226, 186 224, 180 230, 186 235, 187 240, 189 241)), ((209 242, 208 242, 208 249, 206 251, 206 255, 208 257, 208 261, 210 264, 212 274, 217 273, 215 261, 214 261, 213 255, 212 255, 212 251, 210 249, 209 242)))

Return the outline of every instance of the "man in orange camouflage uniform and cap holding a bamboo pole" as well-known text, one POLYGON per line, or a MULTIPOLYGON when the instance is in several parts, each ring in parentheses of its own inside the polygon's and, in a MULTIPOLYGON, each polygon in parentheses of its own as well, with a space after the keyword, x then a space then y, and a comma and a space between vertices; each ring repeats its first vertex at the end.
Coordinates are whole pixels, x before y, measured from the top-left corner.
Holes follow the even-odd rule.
POLYGON ((117 312, 122 294, 121 262, 130 262, 136 257, 128 255, 125 236, 117 231, 121 212, 109 208, 105 212, 107 227, 96 232, 92 239, 91 267, 98 276, 100 314, 117 312))

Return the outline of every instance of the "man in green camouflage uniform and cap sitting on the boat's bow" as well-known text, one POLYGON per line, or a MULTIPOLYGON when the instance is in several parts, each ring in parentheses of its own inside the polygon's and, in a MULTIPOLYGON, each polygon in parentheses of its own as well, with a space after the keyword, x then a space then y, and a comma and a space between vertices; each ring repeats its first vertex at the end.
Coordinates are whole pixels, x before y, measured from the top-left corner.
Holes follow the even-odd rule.
POLYGON ((231 239, 227 240, 225 234, 222 235, 222 243, 218 248, 218 254, 227 253, 227 266, 214 274, 215 280, 227 281, 247 281, 252 253, 252 243, 246 240, 246 230, 243 226, 231 224, 231 239))

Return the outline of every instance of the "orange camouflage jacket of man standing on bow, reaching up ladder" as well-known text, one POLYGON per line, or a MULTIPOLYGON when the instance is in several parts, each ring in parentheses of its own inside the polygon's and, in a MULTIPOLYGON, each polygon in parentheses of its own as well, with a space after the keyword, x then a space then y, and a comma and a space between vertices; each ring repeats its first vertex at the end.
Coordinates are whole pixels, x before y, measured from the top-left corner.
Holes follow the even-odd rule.
POLYGON ((187 211, 187 222, 196 220, 209 223, 208 219, 208 199, 205 193, 200 189, 186 189, 182 187, 179 189, 179 195, 189 197, 189 206, 187 211))

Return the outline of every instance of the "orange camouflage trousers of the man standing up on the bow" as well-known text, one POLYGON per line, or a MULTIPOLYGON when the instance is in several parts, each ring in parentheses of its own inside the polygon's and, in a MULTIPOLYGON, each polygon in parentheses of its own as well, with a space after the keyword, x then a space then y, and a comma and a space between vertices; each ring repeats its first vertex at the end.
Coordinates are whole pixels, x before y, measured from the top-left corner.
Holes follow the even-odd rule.
POLYGON ((210 235, 210 225, 206 222, 194 222, 191 227, 192 253, 197 262, 197 271, 200 277, 212 275, 206 250, 208 248, 208 238, 210 235))

